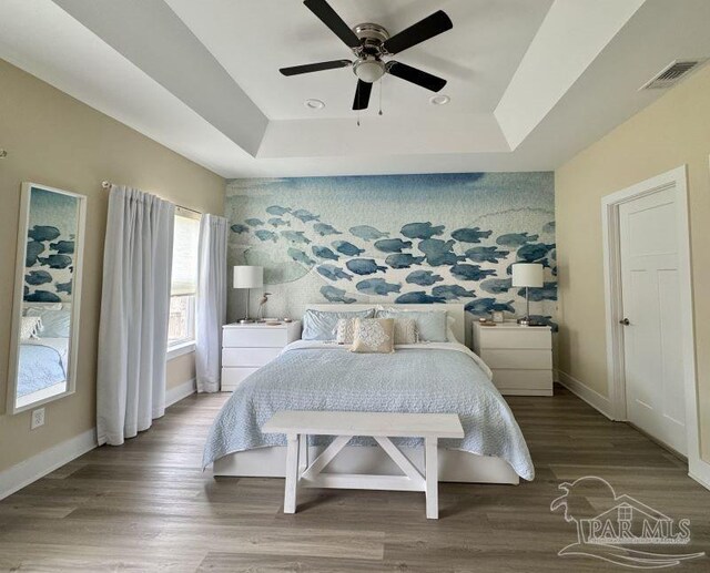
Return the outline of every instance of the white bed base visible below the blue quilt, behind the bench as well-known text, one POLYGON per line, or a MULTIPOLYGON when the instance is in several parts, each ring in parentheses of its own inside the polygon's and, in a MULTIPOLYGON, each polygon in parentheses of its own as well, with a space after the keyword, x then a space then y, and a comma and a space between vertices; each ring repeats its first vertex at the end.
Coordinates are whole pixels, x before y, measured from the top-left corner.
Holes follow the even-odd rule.
MULTIPOLYGON (((323 451, 322 446, 308 448, 313 460, 323 451)), ((424 473, 424 449, 400 448, 402 452, 424 473)), ((381 448, 347 446, 324 473, 396 474, 400 470, 381 448)), ((239 478, 283 478, 286 473, 286 448, 274 446, 230 453, 214 462, 215 475, 239 478)), ((464 483, 518 484, 518 474, 510 464, 489 456, 477 456, 459 450, 439 448, 439 481, 464 483)))

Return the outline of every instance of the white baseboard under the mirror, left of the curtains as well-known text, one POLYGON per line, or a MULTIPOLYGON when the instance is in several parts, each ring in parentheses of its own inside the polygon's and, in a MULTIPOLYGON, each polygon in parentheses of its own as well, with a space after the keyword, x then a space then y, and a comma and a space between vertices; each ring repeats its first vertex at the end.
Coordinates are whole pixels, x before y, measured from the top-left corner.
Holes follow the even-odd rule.
POLYGON ((0 472, 0 500, 75 460, 97 447, 92 428, 0 472))

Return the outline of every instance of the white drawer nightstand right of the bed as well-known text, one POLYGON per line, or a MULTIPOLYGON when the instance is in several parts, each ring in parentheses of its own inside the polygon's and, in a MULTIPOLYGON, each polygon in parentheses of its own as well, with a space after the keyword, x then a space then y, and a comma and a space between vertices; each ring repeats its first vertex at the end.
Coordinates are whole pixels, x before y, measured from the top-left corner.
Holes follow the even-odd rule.
POLYGON ((493 370, 493 382, 503 395, 552 396, 552 329, 474 323, 474 351, 493 370))

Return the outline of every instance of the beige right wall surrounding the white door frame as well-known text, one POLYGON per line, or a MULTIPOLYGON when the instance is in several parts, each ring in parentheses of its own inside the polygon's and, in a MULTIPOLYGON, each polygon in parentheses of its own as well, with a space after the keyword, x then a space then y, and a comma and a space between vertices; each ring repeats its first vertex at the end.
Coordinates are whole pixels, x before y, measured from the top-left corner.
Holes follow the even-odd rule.
POLYGON ((710 461, 710 66, 556 172, 560 370, 608 396, 601 197, 688 165, 701 448, 710 461))

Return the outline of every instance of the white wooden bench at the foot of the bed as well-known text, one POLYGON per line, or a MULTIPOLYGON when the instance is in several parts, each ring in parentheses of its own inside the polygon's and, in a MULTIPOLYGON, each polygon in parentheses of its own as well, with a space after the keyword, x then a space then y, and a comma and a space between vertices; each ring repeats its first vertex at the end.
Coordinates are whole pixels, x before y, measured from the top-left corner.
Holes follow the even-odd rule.
POLYGON ((264 433, 285 433, 286 492, 284 513, 296 512, 298 488, 339 488, 426 492, 426 516, 438 519, 438 440, 463 438, 455 413, 389 413, 296 411, 276 412, 263 427, 264 433), (308 463, 308 436, 335 436, 323 452, 308 463), (400 475, 323 473, 325 467, 355 436, 374 438, 403 471, 400 475), (425 474, 392 443, 389 438, 424 438, 425 474))

